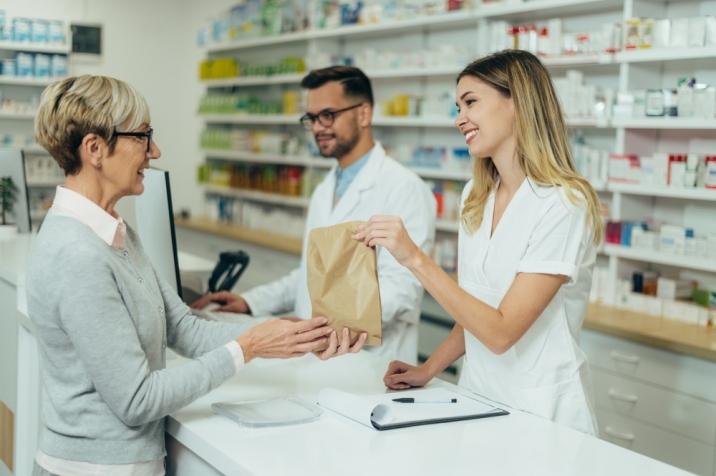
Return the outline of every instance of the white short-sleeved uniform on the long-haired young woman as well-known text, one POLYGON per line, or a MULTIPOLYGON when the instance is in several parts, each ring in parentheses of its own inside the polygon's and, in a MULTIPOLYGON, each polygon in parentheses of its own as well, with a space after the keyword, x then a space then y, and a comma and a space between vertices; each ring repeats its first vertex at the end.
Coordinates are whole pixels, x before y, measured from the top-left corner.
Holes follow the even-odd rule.
MULTIPOLYGON (((470 193, 473 182, 462 196, 470 193)), ((499 186, 499 185, 498 185, 499 186)), ((580 195, 578 195, 580 196, 580 195)), ((561 187, 525 179, 490 237, 493 192, 480 228, 460 226, 460 287, 497 308, 517 273, 568 276, 524 336, 502 355, 465 331, 460 385, 590 435, 597 434, 592 381, 579 337, 596 258, 586 207, 573 205, 561 187)), ((477 321, 480 316, 474 317, 477 321)))

